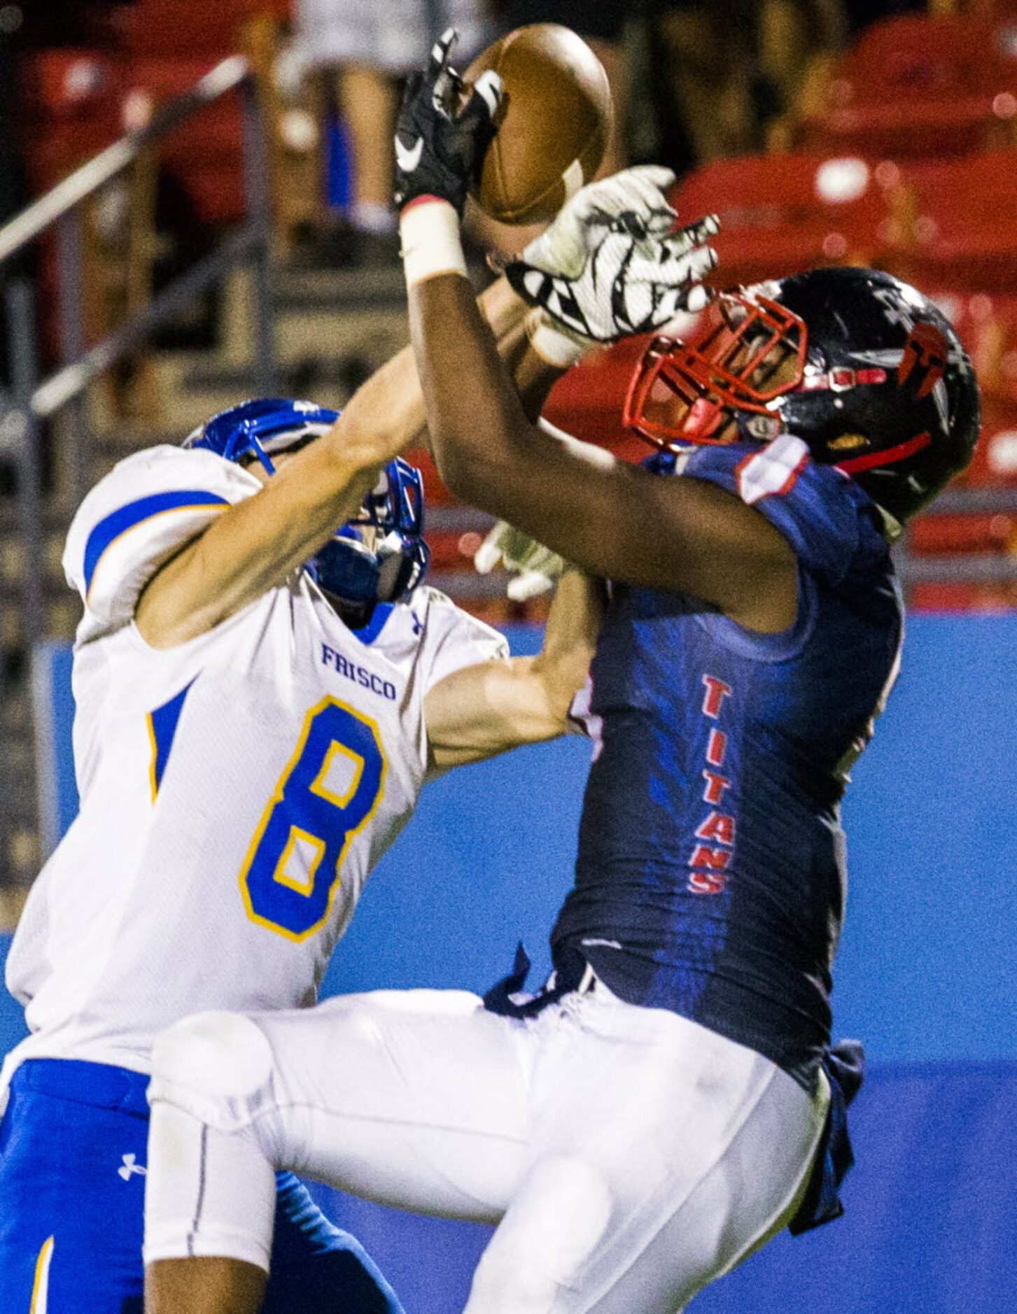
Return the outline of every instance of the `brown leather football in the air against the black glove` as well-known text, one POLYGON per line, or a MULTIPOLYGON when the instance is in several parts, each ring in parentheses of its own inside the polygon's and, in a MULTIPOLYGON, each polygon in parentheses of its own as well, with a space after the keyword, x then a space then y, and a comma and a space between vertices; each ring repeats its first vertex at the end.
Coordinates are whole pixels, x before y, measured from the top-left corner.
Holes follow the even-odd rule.
POLYGON ((614 116, 607 74, 586 42, 557 22, 495 41, 469 66, 466 83, 487 68, 501 76, 505 99, 472 196, 502 223, 549 219, 603 159, 614 116))

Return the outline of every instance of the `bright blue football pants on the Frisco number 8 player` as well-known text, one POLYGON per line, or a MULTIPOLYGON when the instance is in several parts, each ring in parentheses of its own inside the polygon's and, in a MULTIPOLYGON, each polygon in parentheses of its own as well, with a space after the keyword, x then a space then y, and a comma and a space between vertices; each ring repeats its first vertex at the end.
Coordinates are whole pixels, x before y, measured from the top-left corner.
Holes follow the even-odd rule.
MULTIPOLYGON (((68 1059, 14 1072, 0 1121, 3 1314, 142 1314, 147 1084, 68 1059)), ((355 1238, 280 1173, 263 1314, 294 1311, 402 1314, 355 1238)))

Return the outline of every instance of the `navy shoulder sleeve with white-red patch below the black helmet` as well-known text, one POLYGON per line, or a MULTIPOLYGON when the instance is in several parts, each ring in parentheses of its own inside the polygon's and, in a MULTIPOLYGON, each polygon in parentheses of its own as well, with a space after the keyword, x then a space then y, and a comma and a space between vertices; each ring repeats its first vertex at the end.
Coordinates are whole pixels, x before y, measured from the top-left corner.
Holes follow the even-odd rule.
POLYGON ((791 544, 799 562, 840 583, 859 549, 878 533, 869 498, 832 465, 816 465, 792 434, 766 447, 700 447, 683 477, 708 480, 756 507, 791 544))

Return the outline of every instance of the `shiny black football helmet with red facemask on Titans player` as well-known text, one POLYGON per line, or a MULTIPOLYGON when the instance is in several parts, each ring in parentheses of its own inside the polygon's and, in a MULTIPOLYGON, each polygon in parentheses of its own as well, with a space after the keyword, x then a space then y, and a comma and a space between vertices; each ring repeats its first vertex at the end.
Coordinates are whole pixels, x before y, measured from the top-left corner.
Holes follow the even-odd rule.
POLYGON ((812 269, 721 293, 689 340, 657 338, 625 423, 669 451, 791 432, 892 520, 971 460, 975 372, 949 319, 878 269, 812 269))

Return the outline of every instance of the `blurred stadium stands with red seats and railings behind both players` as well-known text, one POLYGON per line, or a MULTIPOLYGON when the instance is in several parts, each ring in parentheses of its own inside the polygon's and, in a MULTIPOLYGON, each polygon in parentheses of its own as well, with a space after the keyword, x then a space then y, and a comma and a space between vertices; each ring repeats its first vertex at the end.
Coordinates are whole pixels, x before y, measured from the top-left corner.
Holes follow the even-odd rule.
MULTIPOLYGON (((448 25, 465 66, 539 21, 607 70, 603 171, 667 164, 682 215, 720 213, 719 281, 874 264, 951 315, 983 442, 901 574, 917 610, 1017 604, 1017 0, 0 0, 0 925, 59 830, 74 507, 243 397, 342 405, 406 342, 401 80, 448 25)), ((527 237, 473 213, 477 283, 527 237)), ((641 347, 570 372, 551 418, 636 455, 619 415, 641 347)), ((472 572, 487 522, 410 455, 434 582, 540 620, 472 572)))

